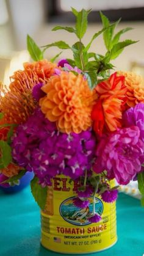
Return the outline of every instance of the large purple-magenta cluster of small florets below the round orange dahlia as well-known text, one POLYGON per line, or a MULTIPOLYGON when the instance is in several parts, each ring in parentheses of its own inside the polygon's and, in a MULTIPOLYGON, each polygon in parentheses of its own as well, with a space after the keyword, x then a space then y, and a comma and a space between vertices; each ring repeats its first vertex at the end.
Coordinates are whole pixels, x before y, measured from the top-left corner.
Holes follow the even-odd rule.
POLYGON ((23 125, 18 126, 12 141, 12 155, 21 167, 32 171, 42 186, 49 185, 57 174, 73 179, 92 167, 95 137, 92 131, 65 134, 56 123, 37 109, 23 125))

